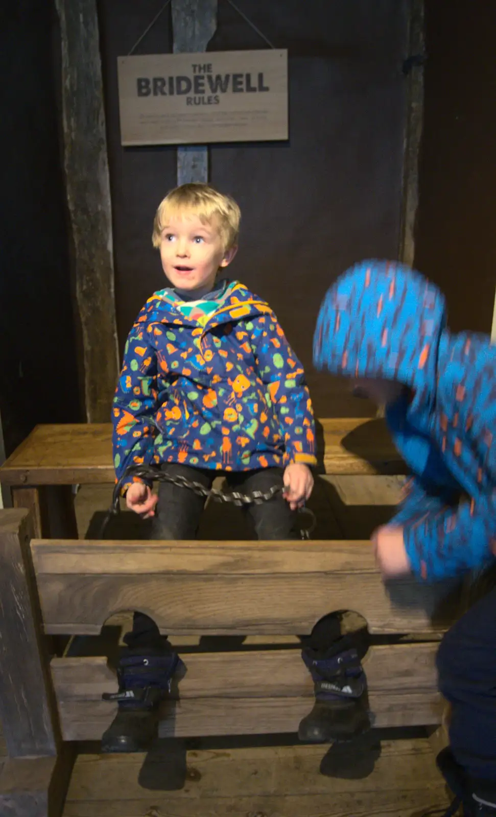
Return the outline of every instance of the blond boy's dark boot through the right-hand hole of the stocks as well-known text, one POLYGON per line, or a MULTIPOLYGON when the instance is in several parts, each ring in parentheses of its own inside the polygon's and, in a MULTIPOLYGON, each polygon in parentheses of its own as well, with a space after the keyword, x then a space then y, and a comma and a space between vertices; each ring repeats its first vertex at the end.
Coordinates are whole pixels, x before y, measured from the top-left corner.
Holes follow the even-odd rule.
POLYGON ((315 705, 303 718, 298 738, 307 743, 350 740, 370 728, 367 679, 348 636, 328 650, 302 650, 314 681, 315 705))

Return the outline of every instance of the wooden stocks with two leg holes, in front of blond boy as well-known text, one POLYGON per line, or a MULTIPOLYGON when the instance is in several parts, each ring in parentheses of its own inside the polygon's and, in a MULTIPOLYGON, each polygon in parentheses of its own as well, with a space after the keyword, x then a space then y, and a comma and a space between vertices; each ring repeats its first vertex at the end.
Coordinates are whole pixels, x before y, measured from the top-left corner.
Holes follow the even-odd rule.
MULTIPOLYGON (((96 636, 140 609, 177 637, 294 636, 335 610, 374 635, 364 658, 376 726, 437 725, 435 654, 459 588, 404 578, 385 587, 369 542, 97 542, 31 538, 27 511, 0 512, 0 715, 9 760, 0 814, 57 817, 79 740, 98 740, 117 689, 105 656, 52 657, 42 633, 96 636), (400 636, 403 640, 400 641, 400 636), (9 808, 11 810, 9 810, 9 808)), ((311 678, 297 642, 183 654, 162 736, 297 731, 311 678)), ((324 749, 323 749, 324 752, 324 749)))

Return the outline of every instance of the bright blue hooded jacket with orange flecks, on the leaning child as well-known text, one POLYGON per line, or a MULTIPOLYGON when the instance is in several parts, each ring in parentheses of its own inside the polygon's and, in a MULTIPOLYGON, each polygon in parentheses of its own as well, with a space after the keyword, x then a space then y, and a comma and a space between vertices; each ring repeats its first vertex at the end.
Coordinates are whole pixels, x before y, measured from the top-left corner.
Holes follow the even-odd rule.
POLYGON ((402 525, 413 572, 434 580, 496 552, 496 347, 453 335, 445 299, 409 267, 364 261, 328 290, 314 338, 319 368, 409 386, 387 407, 413 471, 391 525, 402 525))

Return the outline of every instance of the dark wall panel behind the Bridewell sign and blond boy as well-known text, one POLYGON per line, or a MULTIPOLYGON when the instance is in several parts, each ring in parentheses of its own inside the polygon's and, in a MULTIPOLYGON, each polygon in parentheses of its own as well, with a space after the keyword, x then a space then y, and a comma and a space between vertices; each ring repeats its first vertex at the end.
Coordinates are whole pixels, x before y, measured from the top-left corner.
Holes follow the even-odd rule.
MULTIPOLYGON (((176 150, 126 148, 118 127, 117 57, 159 0, 101 0, 121 346, 143 302, 164 285, 150 242, 154 211, 176 184, 176 150)), ((313 372, 311 339, 328 285, 354 261, 397 257, 403 163, 406 0, 244 0, 275 47, 289 51, 290 138, 214 145, 211 180, 243 213, 231 275, 270 301, 306 367, 320 416, 370 413, 343 382, 313 372)), ((172 50, 168 11, 137 53, 172 50)), ((219 2, 208 50, 264 48, 219 2)))

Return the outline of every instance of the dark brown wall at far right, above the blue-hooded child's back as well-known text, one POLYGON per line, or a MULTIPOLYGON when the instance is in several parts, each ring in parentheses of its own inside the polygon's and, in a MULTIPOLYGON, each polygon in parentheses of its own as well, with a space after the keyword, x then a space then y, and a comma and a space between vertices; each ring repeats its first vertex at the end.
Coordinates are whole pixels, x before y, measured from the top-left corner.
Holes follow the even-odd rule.
POLYGON ((426 0, 415 265, 455 330, 489 333, 496 288, 496 3, 426 0))

